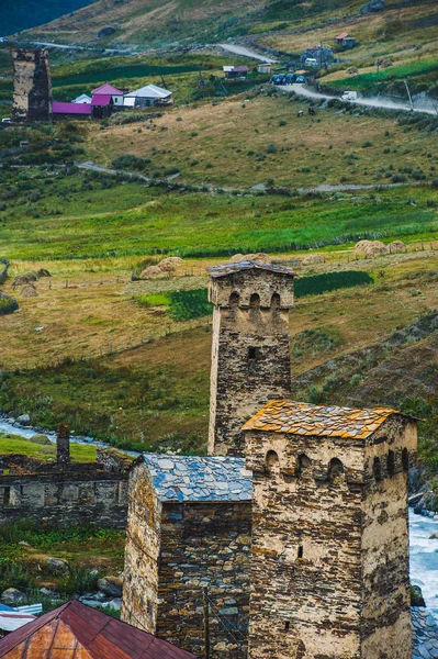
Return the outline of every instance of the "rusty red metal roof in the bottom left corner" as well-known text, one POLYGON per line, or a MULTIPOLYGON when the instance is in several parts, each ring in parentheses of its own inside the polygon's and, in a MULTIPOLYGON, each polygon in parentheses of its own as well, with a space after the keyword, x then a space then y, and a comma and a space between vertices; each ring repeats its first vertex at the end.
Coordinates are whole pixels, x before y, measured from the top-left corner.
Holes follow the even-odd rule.
POLYGON ((195 659, 191 652, 77 600, 0 640, 0 657, 10 652, 16 659, 46 657, 45 649, 53 647, 55 637, 57 659, 195 659))

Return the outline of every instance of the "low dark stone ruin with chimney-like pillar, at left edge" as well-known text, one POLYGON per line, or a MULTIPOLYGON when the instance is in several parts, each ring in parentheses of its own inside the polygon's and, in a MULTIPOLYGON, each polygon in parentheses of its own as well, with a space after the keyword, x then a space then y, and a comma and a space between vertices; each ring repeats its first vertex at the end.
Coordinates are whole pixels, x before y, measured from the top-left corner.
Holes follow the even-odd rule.
POLYGON ((99 450, 97 462, 70 462, 68 433, 61 426, 56 462, 0 456, 0 524, 25 518, 125 528, 131 465, 113 450, 99 450))

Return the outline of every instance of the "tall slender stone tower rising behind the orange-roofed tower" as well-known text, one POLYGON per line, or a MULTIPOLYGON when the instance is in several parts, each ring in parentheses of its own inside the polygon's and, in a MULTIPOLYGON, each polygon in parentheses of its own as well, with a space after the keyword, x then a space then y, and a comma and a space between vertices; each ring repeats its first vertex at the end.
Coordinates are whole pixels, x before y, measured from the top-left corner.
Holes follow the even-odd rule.
POLYGON ((213 311, 209 454, 243 456, 242 425, 291 390, 294 272, 240 261, 209 268, 213 311))

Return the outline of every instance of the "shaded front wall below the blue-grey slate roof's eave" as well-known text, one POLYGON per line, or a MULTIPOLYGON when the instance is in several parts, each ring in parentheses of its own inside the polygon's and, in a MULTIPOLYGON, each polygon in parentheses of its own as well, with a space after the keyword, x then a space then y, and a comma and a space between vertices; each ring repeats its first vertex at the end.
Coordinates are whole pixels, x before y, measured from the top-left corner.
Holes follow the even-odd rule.
POLYGON ((250 527, 250 503, 164 505, 158 636, 202 657, 207 587, 210 659, 246 658, 250 527))

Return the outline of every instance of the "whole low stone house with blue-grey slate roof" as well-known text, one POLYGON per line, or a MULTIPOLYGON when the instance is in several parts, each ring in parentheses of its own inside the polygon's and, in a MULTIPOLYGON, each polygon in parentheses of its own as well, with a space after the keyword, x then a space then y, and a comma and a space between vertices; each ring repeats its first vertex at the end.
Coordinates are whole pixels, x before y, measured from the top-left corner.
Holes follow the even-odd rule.
POLYGON ((122 619, 202 656, 206 601, 210 659, 246 657, 251 495, 240 458, 139 458, 130 478, 122 619))

